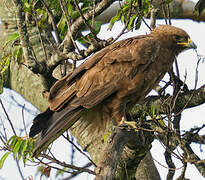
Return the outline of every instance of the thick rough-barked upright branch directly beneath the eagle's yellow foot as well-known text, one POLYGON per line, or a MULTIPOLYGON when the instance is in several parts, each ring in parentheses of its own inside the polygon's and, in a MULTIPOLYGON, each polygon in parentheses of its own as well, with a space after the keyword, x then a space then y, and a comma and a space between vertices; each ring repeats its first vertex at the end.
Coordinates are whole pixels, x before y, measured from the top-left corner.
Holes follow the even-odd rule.
MULTIPOLYGON (((144 125, 148 128, 147 125, 144 125)), ((153 133, 127 126, 115 128, 96 168, 96 180, 134 179, 140 161, 151 147, 153 133)))

